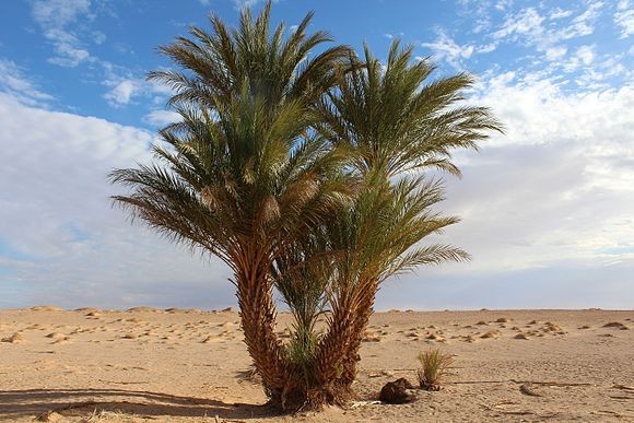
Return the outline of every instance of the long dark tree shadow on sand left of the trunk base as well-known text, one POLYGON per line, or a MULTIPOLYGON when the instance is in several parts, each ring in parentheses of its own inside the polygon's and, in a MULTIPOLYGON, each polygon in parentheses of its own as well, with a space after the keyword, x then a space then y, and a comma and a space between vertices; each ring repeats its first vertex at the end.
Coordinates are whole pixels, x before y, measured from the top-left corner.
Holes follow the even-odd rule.
POLYGON ((136 416, 219 416, 262 419, 280 415, 262 404, 225 403, 208 398, 125 389, 25 389, 0 391, 0 420, 37 416, 57 412, 67 416, 91 414, 96 410, 136 416))

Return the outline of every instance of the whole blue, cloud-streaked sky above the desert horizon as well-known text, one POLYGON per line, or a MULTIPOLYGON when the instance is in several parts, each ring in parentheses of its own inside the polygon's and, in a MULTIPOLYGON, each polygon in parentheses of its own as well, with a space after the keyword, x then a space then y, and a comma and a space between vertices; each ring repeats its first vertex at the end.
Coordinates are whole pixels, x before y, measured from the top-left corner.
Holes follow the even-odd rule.
MULTIPOLYGON (((157 47, 227 24, 258 0, 0 2, 0 308, 52 304, 220 308, 228 269, 111 207, 113 168, 151 160, 173 121, 145 74, 157 47)), ((287 31, 310 10, 385 59, 392 39, 436 75, 477 77, 468 102, 506 127, 458 152, 442 240, 468 263, 388 280, 377 309, 634 307, 634 2, 278 0, 287 31)))

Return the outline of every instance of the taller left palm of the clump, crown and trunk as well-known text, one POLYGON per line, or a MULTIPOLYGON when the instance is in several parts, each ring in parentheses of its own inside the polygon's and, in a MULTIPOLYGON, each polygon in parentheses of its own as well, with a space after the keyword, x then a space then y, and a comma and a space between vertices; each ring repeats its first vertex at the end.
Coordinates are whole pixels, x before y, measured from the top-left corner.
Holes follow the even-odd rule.
POLYGON ((274 403, 293 388, 293 363, 278 339, 271 269, 295 240, 341 207, 351 191, 344 155, 312 130, 314 105, 349 55, 330 37, 306 34, 312 14, 286 38, 270 33, 270 2, 228 30, 191 27, 161 51, 184 71, 149 78, 175 90, 181 121, 160 132, 156 163, 118 169, 115 197, 132 216, 178 243, 220 257, 233 271, 245 343, 274 403))

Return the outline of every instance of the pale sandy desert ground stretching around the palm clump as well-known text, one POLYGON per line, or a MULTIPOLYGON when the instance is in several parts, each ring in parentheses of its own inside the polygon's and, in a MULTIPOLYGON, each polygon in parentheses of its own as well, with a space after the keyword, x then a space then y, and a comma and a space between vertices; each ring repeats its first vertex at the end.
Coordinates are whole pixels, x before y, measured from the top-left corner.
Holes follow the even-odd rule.
POLYGON ((262 406, 234 312, 0 310, 0 340, 11 422, 634 421, 634 312, 378 313, 359 401, 295 416, 262 406), (430 346, 455 355, 445 388, 376 403, 385 383, 415 381, 430 346))

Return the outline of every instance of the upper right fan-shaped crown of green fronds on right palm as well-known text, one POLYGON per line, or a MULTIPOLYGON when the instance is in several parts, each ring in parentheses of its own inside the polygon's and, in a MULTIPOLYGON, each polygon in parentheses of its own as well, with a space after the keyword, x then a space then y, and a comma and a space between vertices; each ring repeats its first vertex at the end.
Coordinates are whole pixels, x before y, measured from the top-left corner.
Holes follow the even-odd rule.
MULTIPOLYGON (((460 106, 473 84, 467 73, 427 81, 428 60, 413 61, 413 47, 395 42, 385 66, 367 46, 364 66, 341 74, 338 90, 321 102, 321 130, 334 142, 353 144, 361 169, 390 176, 437 167, 459 174, 451 150, 477 149, 502 126, 485 107, 460 106)), ((352 59, 355 60, 355 59, 352 59)))

